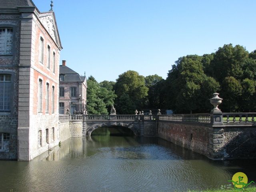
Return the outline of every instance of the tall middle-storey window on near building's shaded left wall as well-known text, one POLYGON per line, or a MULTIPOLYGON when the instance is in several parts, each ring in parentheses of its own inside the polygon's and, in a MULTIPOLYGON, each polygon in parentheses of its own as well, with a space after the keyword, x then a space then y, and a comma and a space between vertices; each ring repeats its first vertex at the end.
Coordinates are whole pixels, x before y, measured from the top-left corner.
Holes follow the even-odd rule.
POLYGON ((0 111, 10 111, 11 75, 0 74, 0 111))

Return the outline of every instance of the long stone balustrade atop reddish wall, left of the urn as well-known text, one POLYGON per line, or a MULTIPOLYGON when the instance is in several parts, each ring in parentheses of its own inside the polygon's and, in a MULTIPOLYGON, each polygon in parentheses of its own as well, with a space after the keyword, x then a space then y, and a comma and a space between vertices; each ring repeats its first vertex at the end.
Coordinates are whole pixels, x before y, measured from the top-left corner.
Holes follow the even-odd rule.
POLYGON ((172 115, 160 115, 159 120, 178 121, 178 122, 197 122, 197 123, 210 123, 211 114, 172 114, 172 115))

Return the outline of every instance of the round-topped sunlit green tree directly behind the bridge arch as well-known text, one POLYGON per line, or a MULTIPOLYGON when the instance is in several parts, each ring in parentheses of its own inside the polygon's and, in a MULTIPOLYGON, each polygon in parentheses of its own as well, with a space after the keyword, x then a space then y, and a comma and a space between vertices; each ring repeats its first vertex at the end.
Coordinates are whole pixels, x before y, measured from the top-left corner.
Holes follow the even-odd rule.
POLYGON ((145 78, 136 71, 126 71, 118 76, 114 86, 116 98, 116 111, 121 114, 133 114, 136 108, 143 108, 148 95, 145 78), (125 101, 124 98, 127 100, 125 101), (130 102, 130 103, 128 103, 130 102), (127 108, 127 106, 130 106, 127 108), (132 109, 131 107, 134 107, 132 109))

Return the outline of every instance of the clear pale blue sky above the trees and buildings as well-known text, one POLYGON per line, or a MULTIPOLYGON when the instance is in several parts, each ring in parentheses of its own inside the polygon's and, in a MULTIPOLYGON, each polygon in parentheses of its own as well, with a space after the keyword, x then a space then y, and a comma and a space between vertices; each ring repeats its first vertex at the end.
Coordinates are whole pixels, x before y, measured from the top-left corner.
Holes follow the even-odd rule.
MULTIPOLYGON (((40 12, 50 1, 33 0, 40 12)), ((167 77, 181 56, 256 49, 255 0, 54 0, 67 66, 98 82, 127 70, 167 77)))

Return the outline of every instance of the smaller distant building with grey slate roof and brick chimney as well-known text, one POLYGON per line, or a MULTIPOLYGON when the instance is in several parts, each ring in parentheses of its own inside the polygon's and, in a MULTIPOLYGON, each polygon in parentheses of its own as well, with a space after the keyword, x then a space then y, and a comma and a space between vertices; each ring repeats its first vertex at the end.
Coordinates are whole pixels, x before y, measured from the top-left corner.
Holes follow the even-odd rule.
POLYGON ((59 84, 59 114, 83 114, 86 110, 86 76, 66 66, 66 61, 60 65, 59 84))

